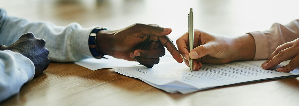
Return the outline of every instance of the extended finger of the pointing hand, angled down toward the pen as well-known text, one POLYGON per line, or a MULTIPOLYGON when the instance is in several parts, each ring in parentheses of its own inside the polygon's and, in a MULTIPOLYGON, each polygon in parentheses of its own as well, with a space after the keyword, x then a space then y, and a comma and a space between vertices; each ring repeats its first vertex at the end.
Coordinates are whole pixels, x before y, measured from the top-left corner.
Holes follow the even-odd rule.
POLYGON ((174 46, 173 41, 170 40, 170 38, 166 35, 166 36, 158 36, 160 42, 162 43, 162 45, 164 47, 166 47, 166 49, 170 52, 170 54, 172 55, 172 57, 179 63, 183 62, 183 58, 181 57, 178 49, 176 49, 176 46, 174 46))

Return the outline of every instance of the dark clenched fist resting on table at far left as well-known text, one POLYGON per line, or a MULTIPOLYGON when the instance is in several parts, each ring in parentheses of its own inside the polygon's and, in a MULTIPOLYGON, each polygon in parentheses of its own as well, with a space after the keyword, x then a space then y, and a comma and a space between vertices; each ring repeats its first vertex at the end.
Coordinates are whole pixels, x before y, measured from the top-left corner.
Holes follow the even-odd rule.
POLYGON ((25 33, 10 46, 0 46, 0 50, 10 50, 29 58, 35 67, 34 77, 39 76, 49 66, 49 51, 45 48, 45 40, 34 37, 32 32, 25 33))

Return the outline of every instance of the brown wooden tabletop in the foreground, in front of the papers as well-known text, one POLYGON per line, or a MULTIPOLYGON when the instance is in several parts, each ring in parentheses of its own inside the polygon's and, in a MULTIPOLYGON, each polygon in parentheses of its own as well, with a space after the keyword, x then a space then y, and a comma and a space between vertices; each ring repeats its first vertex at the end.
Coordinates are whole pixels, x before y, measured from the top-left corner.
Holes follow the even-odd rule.
POLYGON ((0 105, 298 105, 299 77, 228 85, 190 94, 166 93, 139 79, 74 63, 51 63, 0 105))

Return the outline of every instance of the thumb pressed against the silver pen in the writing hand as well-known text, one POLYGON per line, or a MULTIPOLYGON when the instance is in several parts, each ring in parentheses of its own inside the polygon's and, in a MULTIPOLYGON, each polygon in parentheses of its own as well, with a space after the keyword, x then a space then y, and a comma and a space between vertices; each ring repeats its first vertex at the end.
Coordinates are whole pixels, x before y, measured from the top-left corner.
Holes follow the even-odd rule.
POLYGON ((211 47, 210 44, 204 44, 204 45, 200 45, 197 46, 196 48, 192 49, 189 53, 189 57, 191 59, 198 59, 201 57, 204 57, 207 54, 210 54, 213 48, 211 47))

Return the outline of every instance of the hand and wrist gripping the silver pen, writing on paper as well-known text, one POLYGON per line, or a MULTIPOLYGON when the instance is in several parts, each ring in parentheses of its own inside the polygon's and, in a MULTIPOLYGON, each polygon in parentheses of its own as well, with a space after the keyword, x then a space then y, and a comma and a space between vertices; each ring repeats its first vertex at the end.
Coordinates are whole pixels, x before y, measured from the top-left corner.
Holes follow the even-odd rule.
POLYGON ((199 70, 202 63, 220 64, 254 58, 254 39, 249 34, 237 38, 226 38, 213 36, 196 29, 194 30, 194 49, 190 53, 188 36, 188 32, 185 33, 176 40, 176 44, 187 66, 189 66, 190 58, 195 59, 193 60, 193 70, 199 70))

